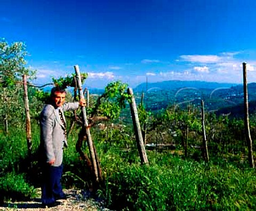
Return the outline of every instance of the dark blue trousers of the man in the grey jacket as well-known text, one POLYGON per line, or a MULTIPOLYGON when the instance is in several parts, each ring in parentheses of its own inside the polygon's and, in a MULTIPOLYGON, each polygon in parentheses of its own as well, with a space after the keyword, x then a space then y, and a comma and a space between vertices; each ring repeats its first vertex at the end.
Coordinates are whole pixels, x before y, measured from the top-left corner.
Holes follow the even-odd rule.
POLYGON ((42 170, 42 203, 47 205, 64 195, 60 183, 63 166, 62 164, 60 166, 46 164, 42 170))

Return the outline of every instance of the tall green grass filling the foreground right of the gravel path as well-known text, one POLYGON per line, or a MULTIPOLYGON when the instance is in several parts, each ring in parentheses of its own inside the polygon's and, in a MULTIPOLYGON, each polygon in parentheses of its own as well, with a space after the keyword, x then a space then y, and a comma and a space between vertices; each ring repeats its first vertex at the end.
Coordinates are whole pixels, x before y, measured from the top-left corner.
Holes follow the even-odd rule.
MULTIPOLYGON (((150 160, 151 157, 149 157, 150 160)), ((165 155, 149 166, 119 166, 99 191, 117 210, 255 210, 255 171, 165 155), (161 162, 159 162, 161 161, 161 162), (160 163, 160 164, 159 164, 160 163), (104 195, 105 194, 105 195, 104 195)), ((151 161, 154 159, 151 159, 151 161)))

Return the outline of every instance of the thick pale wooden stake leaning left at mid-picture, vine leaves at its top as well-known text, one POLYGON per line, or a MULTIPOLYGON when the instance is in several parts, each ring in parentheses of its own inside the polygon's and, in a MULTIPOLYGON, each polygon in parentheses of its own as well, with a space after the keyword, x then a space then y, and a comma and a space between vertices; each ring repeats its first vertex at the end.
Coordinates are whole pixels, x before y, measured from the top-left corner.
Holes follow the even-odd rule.
POLYGON ((141 161, 141 164, 148 164, 148 158, 147 158, 145 146, 143 144, 143 138, 142 138, 142 133, 141 133, 141 128, 140 128, 138 110, 137 110, 137 106, 135 103, 135 98, 133 96, 132 89, 128 88, 127 93, 129 95, 131 95, 131 98, 132 98, 130 107, 131 107, 133 128, 134 128, 135 137, 136 137, 137 146, 138 146, 139 155, 140 155, 140 161, 141 161))

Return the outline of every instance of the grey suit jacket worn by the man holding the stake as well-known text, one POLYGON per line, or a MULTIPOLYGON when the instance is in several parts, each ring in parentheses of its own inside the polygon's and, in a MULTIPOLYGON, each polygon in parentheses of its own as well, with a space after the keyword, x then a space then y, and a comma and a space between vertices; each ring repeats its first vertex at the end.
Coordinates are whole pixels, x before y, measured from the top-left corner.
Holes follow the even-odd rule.
MULTIPOLYGON (((41 153, 42 162, 49 162, 55 158, 53 166, 60 166, 63 158, 63 147, 68 146, 65 126, 60 120, 59 109, 63 112, 70 109, 77 109, 79 103, 65 103, 63 106, 54 108, 48 104, 45 105, 40 114, 40 128, 41 128, 41 153)), ((65 116, 63 114, 63 119, 65 116)))

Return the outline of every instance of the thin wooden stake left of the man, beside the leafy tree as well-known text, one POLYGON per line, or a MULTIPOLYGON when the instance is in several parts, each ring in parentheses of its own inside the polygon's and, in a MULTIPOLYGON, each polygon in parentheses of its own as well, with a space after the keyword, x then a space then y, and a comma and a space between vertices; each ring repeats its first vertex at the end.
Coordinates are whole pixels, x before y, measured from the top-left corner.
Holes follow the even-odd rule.
POLYGON ((27 77, 26 75, 22 75, 23 81, 23 90, 24 90, 24 102, 25 102, 25 113, 26 113, 26 137, 27 137, 27 146, 28 146, 28 158, 29 158, 29 166, 31 167, 31 156, 32 156, 32 141, 31 141, 31 122, 30 122, 30 114, 29 114, 29 104, 28 104, 28 87, 27 87, 27 77))

